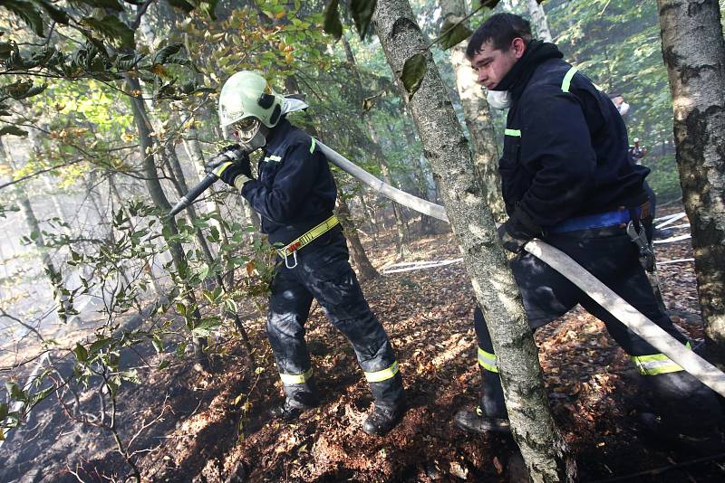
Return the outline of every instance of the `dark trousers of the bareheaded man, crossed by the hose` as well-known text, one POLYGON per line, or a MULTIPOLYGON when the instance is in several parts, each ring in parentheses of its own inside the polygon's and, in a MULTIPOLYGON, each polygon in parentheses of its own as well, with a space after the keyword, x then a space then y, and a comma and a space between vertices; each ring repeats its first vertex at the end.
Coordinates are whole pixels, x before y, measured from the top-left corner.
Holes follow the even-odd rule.
MULTIPOLYGON (((682 344, 689 342, 672 326, 667 314, 658 308, 652 287, 638 260, 638 251, 623 228, 551 233, 546 236, 545 242, 564 251, 682 344)), ((698 418, 710 418, 708 424, 721 417, 716 394, 710 388, 691 374, 683 372, 679 365, 635 335, 544 261, 524 253, 511 260, 510 266, 533 330, 564 315, 577 303, 581 304, 604 322, 609 334, 630 355, 638 372, 648 376, 643 382, 653 396, 653 403, 659 407, 658 412, 670 415, 668 419, 672 424, 691 427, 694 424, 692 420, 696 419, 691 412, 692 407, 699 408, 698 418)), ((478 336, 478 365, 483 375, 481 409, 488 416, 506 418, 501 382, 496 374, 496 355, 486 320, 478 307, 474 314, 474 325, 478 336)))

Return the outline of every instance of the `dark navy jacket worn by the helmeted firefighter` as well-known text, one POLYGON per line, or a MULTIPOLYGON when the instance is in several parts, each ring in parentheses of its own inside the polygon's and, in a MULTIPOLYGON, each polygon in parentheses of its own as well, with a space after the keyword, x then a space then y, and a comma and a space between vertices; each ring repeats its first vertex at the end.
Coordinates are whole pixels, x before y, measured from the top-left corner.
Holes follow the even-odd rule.
POLYGON ((332 216, 337 192, 327 158, 286 119, 267 139, 257 173, 241 194, 260 214, 269 242, 292 242, 332 216))

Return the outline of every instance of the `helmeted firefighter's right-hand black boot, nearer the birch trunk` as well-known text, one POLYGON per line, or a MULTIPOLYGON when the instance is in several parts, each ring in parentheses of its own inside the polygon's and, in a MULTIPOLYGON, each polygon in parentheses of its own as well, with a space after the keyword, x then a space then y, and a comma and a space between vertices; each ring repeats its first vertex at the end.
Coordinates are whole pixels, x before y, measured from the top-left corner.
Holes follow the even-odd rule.
POLYGON ((386 381, 371 383, 370 390, 375 407, 362 423, 362 431, 382 436, 398 425, 407 409, 402 376, 398 373, 386 381))

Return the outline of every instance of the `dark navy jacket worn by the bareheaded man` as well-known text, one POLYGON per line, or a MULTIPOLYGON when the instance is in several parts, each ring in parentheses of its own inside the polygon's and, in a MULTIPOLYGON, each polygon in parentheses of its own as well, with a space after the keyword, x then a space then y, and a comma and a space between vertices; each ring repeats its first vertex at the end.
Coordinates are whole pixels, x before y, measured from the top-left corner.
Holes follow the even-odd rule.
POLYGON ((544 228, 643 203, 644 166, 628 159, 614 104, 561 59, 541 62, 510 90, 499 171, 507 213, 544 228))

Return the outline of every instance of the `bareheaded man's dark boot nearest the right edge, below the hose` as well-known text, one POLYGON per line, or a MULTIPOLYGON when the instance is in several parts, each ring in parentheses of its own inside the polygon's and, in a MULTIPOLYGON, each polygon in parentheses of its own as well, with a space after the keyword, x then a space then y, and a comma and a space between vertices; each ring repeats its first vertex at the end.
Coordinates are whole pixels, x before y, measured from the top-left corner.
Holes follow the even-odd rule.
POLYGON ((639 415, 644 431, 701 454, 722 450, 723 413, 716 393, 684 371, 643 377, 652 410, 639 415))

